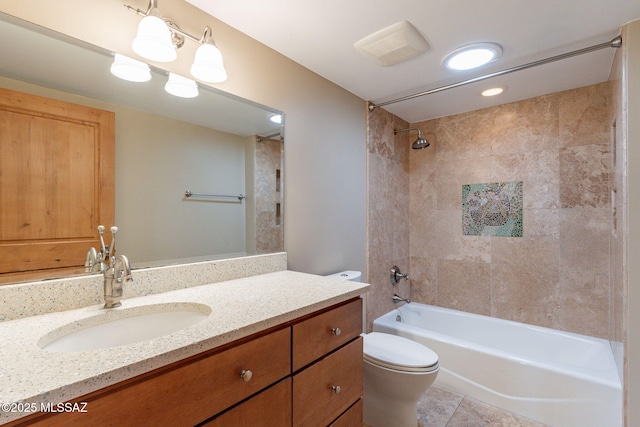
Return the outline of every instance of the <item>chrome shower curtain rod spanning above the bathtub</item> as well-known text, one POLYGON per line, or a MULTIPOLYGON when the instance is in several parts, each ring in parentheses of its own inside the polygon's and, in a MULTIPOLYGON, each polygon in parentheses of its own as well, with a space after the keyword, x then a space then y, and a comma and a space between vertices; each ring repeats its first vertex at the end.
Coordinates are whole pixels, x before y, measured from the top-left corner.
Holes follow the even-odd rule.
POLYGON ((396 102, 408 101, 409 99, 418 98, 418 97, 424 96, 424 95, 431 95, 432 93, 442 92, 442 91, 448 90, 448 89, 454 89, 456 87, 460 87, 460 86, 468 85, 468 84, 471 84, 471 83, 479 82, 479 81, 482 81, 482 80, 490 79, 492 77, 503 76, 505 74, 513 73, 515 71, 522 71, 522 70, 526 70, 528 68, 537 67, 538 65, 549 64, 551 62, 556 62, 556 61, 559 61, 561 59, 566 59, 566 58, 571 58, 573 56, 582 55, 583 53, 594 52, 596 50, 604 49, 604 48, 607 48, 607 47, 619 48, 620 46, 622 46, 622 37, 621 36, 617 36, 614 39, 612 39, 611 41, 608 41, 608 42, 605 42, 605 43, 600 43, 600 44, 597 44, 597 45, 594 45, 594 46, 585 47, 583 49, 574 50, 572 52, 563 53, 561 55, 551 56, 549 58, 540 59, 538 61, 529 62, 528 64, 518 65, 516 67, 507 68, 507 69, 502 70, 502 71, 496 71, 495 73, 485 74, 484 76, 474 77, 472 79, 464 80, 464 81, 461 81, 461 82, 458 82, 458 83, 452 83, 450 85, 440 86, 440 87, 437 87, 435 89, 426 90, 424 92, 414 93, 413 95, 403 96, 402 98, 396 98, 396 99, 392 99, 390 101, 380 102, 378 104, 374 104, 373 102, 369 102, 369 111, 373 111, 378 107, 384 107, 385 105, 395 104, 396 102))

